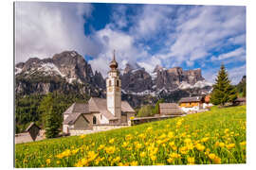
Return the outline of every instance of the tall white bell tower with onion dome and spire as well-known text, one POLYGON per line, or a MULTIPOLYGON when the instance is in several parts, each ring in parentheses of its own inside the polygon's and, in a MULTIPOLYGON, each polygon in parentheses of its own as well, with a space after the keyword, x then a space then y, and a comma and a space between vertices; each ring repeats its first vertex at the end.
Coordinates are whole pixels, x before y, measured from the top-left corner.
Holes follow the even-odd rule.
POLYGON ((121 81, 119 79, 119 64, 116 61, 115 50, 113 52, 113 59, 109 63, 110 71, 106 79, 107 90, 107 110, 109 110, 115 117, 121 117, 121 81))

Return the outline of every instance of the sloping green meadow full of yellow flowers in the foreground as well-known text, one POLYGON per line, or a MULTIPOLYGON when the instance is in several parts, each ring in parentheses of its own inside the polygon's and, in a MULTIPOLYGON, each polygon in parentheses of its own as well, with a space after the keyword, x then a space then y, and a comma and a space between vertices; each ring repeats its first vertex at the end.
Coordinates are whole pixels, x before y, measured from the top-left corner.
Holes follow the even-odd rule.
POLYGON ((15 167, 246 163, 246 106, 15 144, 15 167))

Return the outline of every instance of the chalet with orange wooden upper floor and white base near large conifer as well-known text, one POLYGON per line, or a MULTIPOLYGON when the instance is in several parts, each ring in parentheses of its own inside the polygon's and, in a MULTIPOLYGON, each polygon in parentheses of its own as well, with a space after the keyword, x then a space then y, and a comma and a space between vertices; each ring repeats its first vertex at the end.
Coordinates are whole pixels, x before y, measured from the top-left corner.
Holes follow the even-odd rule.
POLYGON ((184 97, 178 102, 181 110, 185 112, 198 111, 203 109, 204 97, 194 96, 194 97, 184 97))

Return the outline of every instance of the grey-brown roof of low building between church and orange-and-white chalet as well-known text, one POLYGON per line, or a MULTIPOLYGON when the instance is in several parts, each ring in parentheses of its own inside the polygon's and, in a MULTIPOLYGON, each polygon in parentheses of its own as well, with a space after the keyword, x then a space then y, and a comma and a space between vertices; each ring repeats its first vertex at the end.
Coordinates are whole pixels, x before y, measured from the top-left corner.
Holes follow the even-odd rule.
POLYGON ((182 115, 184 113, 175 103, 159 103, 159 114, 162 115, 182 115))

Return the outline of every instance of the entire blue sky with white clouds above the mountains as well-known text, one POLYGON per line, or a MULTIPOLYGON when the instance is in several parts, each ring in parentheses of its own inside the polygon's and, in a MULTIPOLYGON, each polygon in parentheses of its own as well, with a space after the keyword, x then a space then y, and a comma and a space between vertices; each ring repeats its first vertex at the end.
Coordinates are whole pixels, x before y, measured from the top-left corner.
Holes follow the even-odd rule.
POLYGON ((106 76, 115 49, 120 68, 201 68, 214 82, 224 63, 232 83, 246 75, 245 7, 18 2, 15 11, 16 62, 76 50, 106 76))

